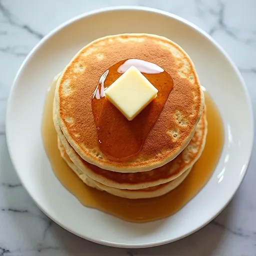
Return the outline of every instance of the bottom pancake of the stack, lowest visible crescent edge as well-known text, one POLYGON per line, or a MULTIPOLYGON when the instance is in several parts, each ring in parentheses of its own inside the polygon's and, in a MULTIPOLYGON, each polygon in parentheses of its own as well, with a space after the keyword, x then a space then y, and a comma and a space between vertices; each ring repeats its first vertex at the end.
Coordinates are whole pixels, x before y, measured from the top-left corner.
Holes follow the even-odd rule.
POLYGON ((168 193, 169 191, 173 190, 175 187, 177 187, 188 175, 192 167, 185 170, 180 176, 177 178, 157 186, 152 186, 148 188, 143 189, 136 189, 136 190, 129 190, 129 189, 119 189, 116 187, 110 187, 106 186, 100 182, 97 182, 93 180, 92 178, 88 177, 86 174, 84 174, 79 168, 76 167, 76 165, 71 161, 68 154, 65 151, 64 146, 61 144, 59 138, 58 138, 58 148, 60 151, 60 154, 62 158, 66 161, 68 166, 77 174, 77 176, 88 186, 91 186, 93 188, 96 188, 101 191, 106 191, 110 194, 129 198, 129 199, 138 199, 138 198, 152 198, 161 196, 163 194, 168 193))

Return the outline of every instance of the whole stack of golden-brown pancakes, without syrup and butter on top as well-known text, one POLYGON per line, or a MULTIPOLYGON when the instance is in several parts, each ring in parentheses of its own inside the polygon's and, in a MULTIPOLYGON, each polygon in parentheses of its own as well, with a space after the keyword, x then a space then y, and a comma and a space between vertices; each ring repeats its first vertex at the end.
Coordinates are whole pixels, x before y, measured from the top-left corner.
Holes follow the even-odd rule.
POLYGON ((56 78, 53 122, 61 156, 86 185, 131 199, 157 197, 178 186, 201 155, 207 133, 191 59, 176 43, 152 34, 111 35, 83 47, 56 78), (99 148, 91 100, 101 75, 131 58, 162 67, 173 88, 140 151, 114 160, 99 148))

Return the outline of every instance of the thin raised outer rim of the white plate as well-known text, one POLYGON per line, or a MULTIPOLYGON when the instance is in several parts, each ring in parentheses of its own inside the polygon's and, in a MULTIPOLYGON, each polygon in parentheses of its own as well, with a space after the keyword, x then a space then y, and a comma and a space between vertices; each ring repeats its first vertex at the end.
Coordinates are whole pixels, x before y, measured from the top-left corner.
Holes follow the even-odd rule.
POLYGON ((199 28, 197 25, 193 24, 192 22, 167 11, 164 10, 160 10, 157 8, 152 8, 152 7, 144 7, 144 6, 136 6, 136 5, 121 5, 121 6, 110 6, 110 7, 103 7, 103 8, 97 8, 94 10, 90 10, 84 13, 81 13, 79 15, 76 15, 64 22, 62 22, 61 24, 57 25, 55 28, 53 28, 50 32, 48 32, 38 43, 36 43, 36 45, 31 49, 31 51, 27 54, 27 56, 25 57, 25 59, 23 60, 23 62, 21 63, 20 67, 18 68, 18 71, 16 72, 16 75, 13 79, 10 91, 9 91, 9 95, 8 95, 8 99, 7 99, 7 106, 6 106, 6 117, 5 117, 5 137, 6 137, 6 144, 7 144, 7 148, 8 148, 8 153, 10 156, 10 160, 12 162, 13 168, 18 176, 18 178, 21 181, 22 186, 24 187, 24 189, 27 191, 27 193, 29 194, 29 196, 32 198, 32 200, 34 201, 34 203, 37 205, 37 207, 46 215, 48 216, 50 219, 52 219, 55 223, 57 223, 58 225, 60 225, 61 227, 63 227, 65 230, 81 237, 84 238, 86 240, 95 242, 95 243, 99 243, 99 244, 103 244, 103 245, 107 245, 107 246, 112 246, 112 247, 119 247, 119 248, 144 248, 144 247, 153 247, 153 246, 158 246, 158 245, 163 245, 169 242, 173 242, 179 239, 182 239, 196 231, 198 231, 199 229, 201 229, 203 226, 205 226, 206 224, 208 224, 212 219, 214 219, 225 207, 226 205, 231 201, 231 199, 233 198, 234 194, 236 193, 237 189, 239 188, 241 182, 244 179, 245 174, 247 173, 247 168, 251 159, 251 154, 252 154, 252 148, 253 148, 253 141, 254 141, 254 120, 253 120, 253 110, 252 110, 252 104, 251 104, 251 99, 249 96, 249 92, 248 89, 245 85, 244 79, 240 73, 240 71, 238 70, 237 66, 235 65, 235 63, 233 62, 233 60, 229 57, 229 55, 226 53, 226 51, 209 35, 207 34, 204 30, 202 30, 201 28, 199 28), (191 230, 190 232, 177 237, 176 239, 164 239, 161 241, 156 241, 156 242, 149 242, 149 243, 140 243, 140 244, 124 244, 124 243, 118 243, 118 242, 110 242, 110 241, 105 241, 105 240, 100 240, 100 239, 94 239, 94 238, 90 238, 90 237, 85 237, 85 236, 81 236, 78 233, 76 233, 73 230, 68 229, 64 224, 60 223, 58 220, 53 219, 49 214, 47 214, 47 212, 44 211, 44 209, 41 207, 41 205, 39 205, 39 203, 37 202, 36 198, 33 197, 33 195, 26 189, 26 186, 23 184, 22 179, 19 175, 19 172, 17 171, 17 167, 15 166, 14 163, 14 156, 10 150, 10 138, 8 135, 8 130, 9 130, 9 116, 10 116, 10 109, 11 109, 11 103, 13 101, 13 96, 14 96, 14 89, 18 84, 18 79, 19 76, 22 75, 22 71, 23 68, 26 64, 26 62, 32 57, 33 53, 37 50, 38 47, 40 47, 45 41, 47 41, 52 35, 54 35, 55 33, 57 33, 59 30, 61 30, 62 28, 64 28, 65 26, 80 20, 82 18, 88 17, 88 16, 92 16, 95 14, 100 14, 100 13, 104 13, 104 12, 109 12, 109 11, 119 11, 119 10, 140 10, 140 11, 145 11, 145 12, 152 12, 152 13, 156 13, 156 14, 161 14, 164 15, 168 18, 173 18, 176 19, 182 23, 184 23, 185 25, 189 26, 190 28, 192 28, 193 30, 196 30, 197 32, 199 32, 200 34, 204 35, 204 37, 206 39, 208 39, 223 55, 224 57, 228 60, 228 62, 230 63, 231 67, 233 68, 233 70, 235 71, 235 73, 237 74, 237 77, 240 81, 240 84, 243 88, 244 94, 245 94, 245 98, 246 98, 246 102, 247 102, 247 106, 248 106, 248 114, 250 116, 250 122, 251 122, 251 130, 252 130, 252 134, 250 134, 251 137, 251 143, 250 143, 250 148, 249 148, 249 153, 246 157, 246 161, 244 162, 244 172, 242 173, 239 183, 236 187, 236 189, 234 189, 233 193, 230 195, 229 200, 225 203, 225 205, 223 205, 215 214, 213 214, 213 216, 211 216, 211 218, 208 219, 208 221, 204 222, 202 225, 198 226, 197 228, 191 230))

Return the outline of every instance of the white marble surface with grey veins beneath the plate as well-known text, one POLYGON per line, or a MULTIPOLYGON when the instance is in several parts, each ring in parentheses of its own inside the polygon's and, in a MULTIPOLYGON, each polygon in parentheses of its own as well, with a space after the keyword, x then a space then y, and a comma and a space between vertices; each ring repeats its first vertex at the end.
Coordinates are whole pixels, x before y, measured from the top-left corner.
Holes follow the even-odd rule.
POLYGON ((189 237, 154 248, 118 249, 78 238, 46 217, 21 186, 7 152, 4 118, 22 60, 43 35, 66 19, 123 4, 173 12, 211 34, 237 64, 256 107, 255 0, 0 0, 0 256, 255 256, 255 150, 240 188, 218 217, 189 237))

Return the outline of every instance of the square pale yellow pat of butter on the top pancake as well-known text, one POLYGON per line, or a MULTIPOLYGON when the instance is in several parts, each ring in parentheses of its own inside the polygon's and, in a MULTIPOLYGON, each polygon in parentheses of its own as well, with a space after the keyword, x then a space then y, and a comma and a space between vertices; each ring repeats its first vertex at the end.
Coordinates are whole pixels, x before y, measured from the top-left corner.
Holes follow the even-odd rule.
POLYGON ((105 90, 105 96, 128 120, 132 120, 157 92, 146 77, 131 66, 105 90))

